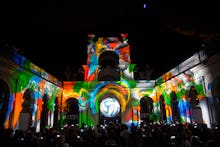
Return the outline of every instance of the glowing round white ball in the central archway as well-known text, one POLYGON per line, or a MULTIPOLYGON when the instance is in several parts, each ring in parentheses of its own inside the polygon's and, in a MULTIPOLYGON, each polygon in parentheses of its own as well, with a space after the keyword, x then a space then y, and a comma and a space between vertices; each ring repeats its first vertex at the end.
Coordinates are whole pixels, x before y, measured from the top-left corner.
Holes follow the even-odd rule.
POLYGON ((100 112, 105 117, 115 117, 120 112, 120 104, 115 98, 105 98, 100 103, 100 112))

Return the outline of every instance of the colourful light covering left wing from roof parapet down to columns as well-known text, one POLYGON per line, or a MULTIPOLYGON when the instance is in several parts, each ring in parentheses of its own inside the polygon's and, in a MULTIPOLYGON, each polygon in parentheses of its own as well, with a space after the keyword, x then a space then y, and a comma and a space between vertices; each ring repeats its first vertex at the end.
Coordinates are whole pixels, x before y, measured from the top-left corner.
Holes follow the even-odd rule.
MULTIPOLYGON (((10 97, 4 126, 6 128, 19 128, 21 124, 21 113, 30 113, 31 126, 35 126, 37 131, 40 129, 40 119, 43 105, 43 96, 48 96, 48 115, 54 111, 55 99, 60 99, 61 89, 58 85, 59 81, 45 72, 43 69, 34 65, 15 52, 11 52, 11 60, 17 64, 10 79, 10 97), (24 108, 27 107, 27 108, 24 108), (28 111, 28 112, 27 112, 28 111)), ((53 126, 52 116, 48 122, 49 126, 53 126)))

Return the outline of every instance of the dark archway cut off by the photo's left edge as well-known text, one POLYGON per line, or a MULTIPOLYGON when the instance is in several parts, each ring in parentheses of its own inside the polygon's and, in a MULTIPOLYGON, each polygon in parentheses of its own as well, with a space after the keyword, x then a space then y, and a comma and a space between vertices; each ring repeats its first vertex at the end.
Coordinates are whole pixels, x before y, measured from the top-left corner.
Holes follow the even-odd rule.
POLYGON ((4 125, 7 117, 10 91, 8 84, 0 79, 0 125, 4 125))

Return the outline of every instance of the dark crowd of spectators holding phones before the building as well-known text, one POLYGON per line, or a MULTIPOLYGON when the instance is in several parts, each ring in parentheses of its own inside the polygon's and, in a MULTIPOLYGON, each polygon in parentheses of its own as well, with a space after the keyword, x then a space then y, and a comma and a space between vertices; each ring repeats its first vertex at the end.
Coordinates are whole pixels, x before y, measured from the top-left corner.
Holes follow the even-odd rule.
POLYGON ((107 125, 13 130, 1 127, 0 145, 30 147, 215 147, 220 145, 219 127, 205 124, 107 125))

